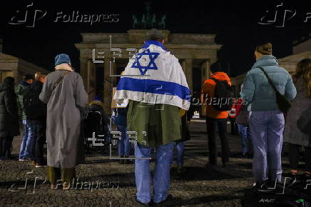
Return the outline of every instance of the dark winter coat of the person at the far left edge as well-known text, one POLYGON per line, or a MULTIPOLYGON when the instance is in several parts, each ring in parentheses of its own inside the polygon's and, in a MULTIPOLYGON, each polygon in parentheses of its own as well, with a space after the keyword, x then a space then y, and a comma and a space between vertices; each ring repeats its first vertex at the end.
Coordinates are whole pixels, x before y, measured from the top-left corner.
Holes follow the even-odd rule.
POLYGON ((0 85, 0 137, 19 135, 19 112, 14 87, 0 85))

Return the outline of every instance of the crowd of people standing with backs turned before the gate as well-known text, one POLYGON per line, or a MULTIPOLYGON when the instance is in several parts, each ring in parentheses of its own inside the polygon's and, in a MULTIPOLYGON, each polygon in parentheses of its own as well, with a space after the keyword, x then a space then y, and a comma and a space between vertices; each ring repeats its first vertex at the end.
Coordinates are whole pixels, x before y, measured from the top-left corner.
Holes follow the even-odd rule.
MULTIPOLYGON (((173 148, 175 146, 178 152, 178 173, 182 173, 185 170, 184 142, 190 139, 188 123, 193 116, 191 93, 183 69, 164 44, 160 31, 151 29, 147 32, 144 46, 136 54, 138 58, 129 60, 113 97, 116 102, 128 100, 126 108, 113 108, 111 118, 121 132, 118 139, 120 163, 133 163, 128 159, 131 143, 126 132, 136 132, 136 199, 144 206, 172 198, 168 190, 173 148), (149 56, 150 62, 144 62, 146 59, 141 56, 149 56), (148 77, 143 76, 145 74, 148 77), (161 88, 155 89, 155 85, 161 88), (152 178, 150 158, 153 149, 155 172, 152 178)), ((297 125, 303 114, 311 113, 311 59, 300 61, 294 76, 290 76, 278 66, 269 42, 258 44, 254 55, 255 64, 241 86, 240 98, 233 99, 233 104, 228 101, 223 106, 215 106, 219 102, 209 101, 233 95, 230 77, 220 63, 210 66, 210 76, 203 83, 201 96, 206 106, 207 167, 218 166, 219 134, 222 166, 224 170, 230 170, 229 119, 231 133, 240 135, 242 156, 253 158, 254 188, 269 191, 272 183, 280 183, 282 179, 284 142, 289 143, 290 176, 293 179, 311 178, 311 132, 308 130, 311 121, 307 119, 305 128, 297 125), (302 176, 297 174, 301 147, 305 151, 302 176)), ((83 115, 87 108, 104 114, 103 103, 98 99, 88 106, 88 94, 81 76, 74 71, 67 54, 56 56, 55 71, 50 74, 38 72, 34 77, 26 75, 15 89, 14 86, 12 77, 4 79, 0 86, 0 160, 11 158, 12 140, 20 133, 21 121, 24 130, 19 161, 31 161, 36 167, 47 166, 51 188, 57 188, 59 179, 63 189, 70 188, 76 177, 75 168, 84 160, 83 115), (44 143, 47 145, 46 159, 44 143)), ((107 118, 104 123, 108 124, 107 118)))

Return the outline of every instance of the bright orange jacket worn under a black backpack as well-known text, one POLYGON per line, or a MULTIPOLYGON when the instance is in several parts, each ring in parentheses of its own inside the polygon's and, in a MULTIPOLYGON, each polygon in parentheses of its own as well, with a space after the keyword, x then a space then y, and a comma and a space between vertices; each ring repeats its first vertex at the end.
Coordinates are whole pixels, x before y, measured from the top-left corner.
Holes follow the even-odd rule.
MULTIPOLYGON (((215 74, 212 74, 211 78, 218 79, 219 81, 228 81, 228 84, 231 86, 230 78, 224 72, 216 72, 215 74)), ((216 83, 212 79, 207 79, 204 81, 202 86, 202 94, 204 94, 205 99, 205 94, 207 94, 209 99, 214 98, 215 86, 216 83)), ((203 104, 205 103, 205 99, 202 102, 203 104)), ((217 111, 215 108, 213 108, 212 105, 208 103, 206 105, 206 116, 210 118, 228 118, 228 111, 217 111)))

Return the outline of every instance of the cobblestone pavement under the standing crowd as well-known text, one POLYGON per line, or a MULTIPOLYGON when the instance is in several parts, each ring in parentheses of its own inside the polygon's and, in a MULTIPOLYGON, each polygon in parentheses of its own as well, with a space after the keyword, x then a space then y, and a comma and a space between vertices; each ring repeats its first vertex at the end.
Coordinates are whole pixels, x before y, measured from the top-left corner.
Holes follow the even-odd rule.
MULTIPOLYGON (((252 161, 237 156, 240 137, 229 136, 230 172, 209 171, 205 168, 208 163, 205 122, 193 121, 190 131, 192 139, 185 143, 186 171, 178 176, 175 162, 171 169, 173 201, 168 206, 240 206, 245 189, 253 183, 252 161)), ((20 137, 14 138, 15 156, 20 143, 20 137)), ((151 168, 153 165, 152 162, 151 168)), ((86 163, 76 170, 78 189, 68 191, 51 190, 44 183, 46 168, 34 168, 29 162, 4 161, 0 168, 0 206, 137 206, 133 164, 121 165, 109 160, 108 155, 87 155, 86 163), (83 183, 83 189, 81 181, 87 182, 83 183)))

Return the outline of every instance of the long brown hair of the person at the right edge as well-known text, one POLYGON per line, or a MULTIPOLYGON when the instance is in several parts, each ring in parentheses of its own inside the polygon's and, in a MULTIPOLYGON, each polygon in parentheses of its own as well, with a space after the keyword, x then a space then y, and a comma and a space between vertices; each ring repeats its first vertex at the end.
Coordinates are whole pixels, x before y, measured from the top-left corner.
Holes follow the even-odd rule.
POLYGON ((300 77, 305 82, 307 96, 311 97, 311 59, 303 59, 297 64, 296 73, 292 79, 297 82, 300 77))

